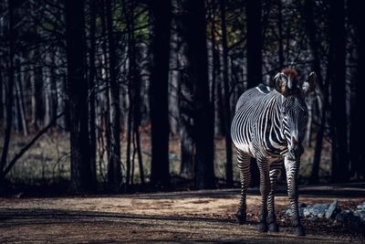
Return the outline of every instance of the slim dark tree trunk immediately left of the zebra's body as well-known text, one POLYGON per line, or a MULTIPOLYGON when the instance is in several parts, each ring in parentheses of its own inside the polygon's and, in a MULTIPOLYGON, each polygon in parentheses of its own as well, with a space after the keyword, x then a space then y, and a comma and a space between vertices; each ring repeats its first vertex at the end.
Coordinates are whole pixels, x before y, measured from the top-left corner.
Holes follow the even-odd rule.
POLYGON ((222 48, 223 48, 223 82, 224 82, 224 122, 225 122, 225 181, 228 187, 234 185, 234 175, 232 166, 232 142, 231 142, 231 104, 230 88, 228 81, 228 48, 227 29, 225 24, 225 1, 220 1, 221 21, 222 21, 222 48))

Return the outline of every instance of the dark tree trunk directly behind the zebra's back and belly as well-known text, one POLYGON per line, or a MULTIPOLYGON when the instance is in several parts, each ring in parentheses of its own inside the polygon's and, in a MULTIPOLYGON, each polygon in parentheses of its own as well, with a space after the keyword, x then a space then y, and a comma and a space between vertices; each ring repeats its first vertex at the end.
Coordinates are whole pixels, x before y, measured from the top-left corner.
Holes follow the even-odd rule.
MULTIPOLYGON (((261 0, 248 1, 247 16, 247 89, 254 88, 262 82, 262 22, 261 0)), ((251 183, 258 186, 260 182, 258 166, 251 160, 251 183)))

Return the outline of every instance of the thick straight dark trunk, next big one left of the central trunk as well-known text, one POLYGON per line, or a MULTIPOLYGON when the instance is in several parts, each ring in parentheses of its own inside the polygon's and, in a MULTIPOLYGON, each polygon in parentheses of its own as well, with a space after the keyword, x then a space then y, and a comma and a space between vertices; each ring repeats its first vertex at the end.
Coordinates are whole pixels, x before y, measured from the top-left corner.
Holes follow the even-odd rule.
POLYGON ((169 61, 172 3, 150 2, 151 21, 151 185, 170 186, 169 61))

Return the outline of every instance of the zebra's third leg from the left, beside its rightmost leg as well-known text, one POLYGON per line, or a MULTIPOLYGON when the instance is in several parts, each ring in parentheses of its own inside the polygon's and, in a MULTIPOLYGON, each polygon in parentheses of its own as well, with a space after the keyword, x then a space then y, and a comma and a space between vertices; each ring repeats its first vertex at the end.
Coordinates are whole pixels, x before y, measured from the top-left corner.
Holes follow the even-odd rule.
POLYGON ((276 222, 276 214, 275 214, 275 190, 276 190, 276 184, 277 184, 277 176, 280 174, 281 171, 281 165, 280 164, 272 164, 270 166, 270 184, 271 184, 271 191, 268 194, 268 217, 267 217, 267 223, 268 223, 268 231, 270 232, 277 232, 279 231, 279 227, 276 222))

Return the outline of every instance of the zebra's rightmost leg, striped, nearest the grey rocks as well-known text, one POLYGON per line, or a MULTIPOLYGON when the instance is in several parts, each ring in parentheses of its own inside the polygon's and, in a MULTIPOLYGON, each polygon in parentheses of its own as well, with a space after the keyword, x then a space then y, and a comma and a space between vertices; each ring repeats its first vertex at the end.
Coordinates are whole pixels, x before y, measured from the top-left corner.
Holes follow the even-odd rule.
POLYGON ((294 227, 294 233, 298 236, 305 236, 306 231, 300 223, 300 216, 297 204, 297 174, 299 171, 300 161, 292 161, 285 159, 285 167, 287 171, 287 194, 289 196, 291 212, 292 212, 292 225, 294 227))

